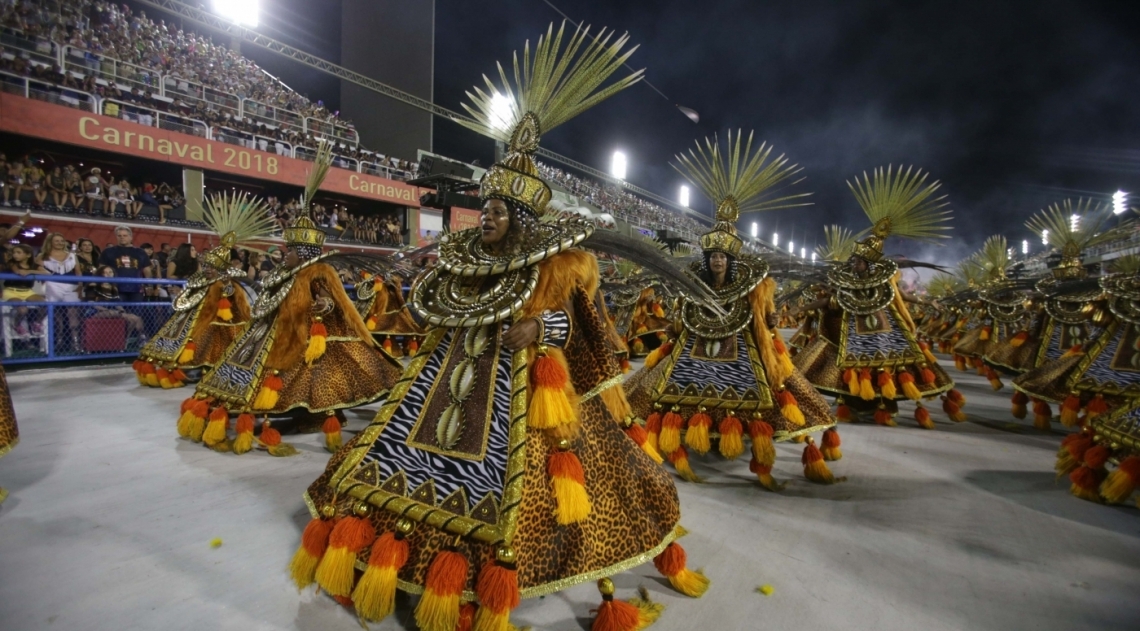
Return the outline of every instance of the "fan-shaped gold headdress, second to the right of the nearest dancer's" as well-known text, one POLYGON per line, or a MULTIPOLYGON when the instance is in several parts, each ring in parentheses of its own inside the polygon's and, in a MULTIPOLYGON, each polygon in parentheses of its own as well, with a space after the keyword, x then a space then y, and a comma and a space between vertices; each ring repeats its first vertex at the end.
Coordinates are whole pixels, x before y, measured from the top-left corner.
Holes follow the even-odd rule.
POLYGON ((948 237, 945 222, 950 221, 950 210, 944 208, 950 202, 945 195, 934 197, 942 183, 927 185, 928 175, 912 166, 906 171, 902 166, 898 171, 880 166, 873 178, 864 171, 862 180, 847 182, 871 220, 871 236, 855 244, 857 256, 872 263, 882 259, 882 241, 890 235, 931 243, 948 237))

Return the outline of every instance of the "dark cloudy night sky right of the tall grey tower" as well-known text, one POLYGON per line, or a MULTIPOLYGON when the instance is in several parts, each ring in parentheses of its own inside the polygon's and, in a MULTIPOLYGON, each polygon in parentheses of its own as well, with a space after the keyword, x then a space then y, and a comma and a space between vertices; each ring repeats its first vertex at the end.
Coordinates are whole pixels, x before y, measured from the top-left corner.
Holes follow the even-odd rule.
MULTIPOLYGON (((888 241, 888 251, 943 262, 995 232, 1032 239, 1023 223, 1049 203, 1140 191, 1140 2, 554 5, 628 31, 641 44, 630 64, 673 101, 636 85, 543 145, 602 169, 622 149, 630 182, 675 198, 675 153, 755 129, 804 166, 815 205, 744 218, 746 231, 755 220, 765 236, 811 244, 824 223, 863 229, 845 180, 890 163, 942 180, 955 239, 935 251, 888 241), (697 109, 700 124, 673 103, 697 109)), ((542 0, 437 0, 437 16, 435 101, 453 108, 496 60, 561 19, 542 0)), ((457 158, 491 155, 490 141, 447 122, 435 139, 457 158)))

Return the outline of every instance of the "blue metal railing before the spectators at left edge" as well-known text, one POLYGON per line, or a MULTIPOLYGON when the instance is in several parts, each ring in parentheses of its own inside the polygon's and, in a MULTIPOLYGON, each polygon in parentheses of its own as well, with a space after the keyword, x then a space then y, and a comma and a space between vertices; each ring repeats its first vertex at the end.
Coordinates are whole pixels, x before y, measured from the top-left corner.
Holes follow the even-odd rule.
MULTIPOLYGON (((184 280, 0 273, 2 281, 44 281, 64 285, 112 282, 121 293, 129 286, 173 287, 184 280)), ((141 290, 141 289, 140 289, 141 290)), ((40 298, 42 300, 42 297, 40 298)), ((138 354, 173 313, 170 298, 155 302, 30 302, 0 301, 0 362, 43 363, 138 354)))

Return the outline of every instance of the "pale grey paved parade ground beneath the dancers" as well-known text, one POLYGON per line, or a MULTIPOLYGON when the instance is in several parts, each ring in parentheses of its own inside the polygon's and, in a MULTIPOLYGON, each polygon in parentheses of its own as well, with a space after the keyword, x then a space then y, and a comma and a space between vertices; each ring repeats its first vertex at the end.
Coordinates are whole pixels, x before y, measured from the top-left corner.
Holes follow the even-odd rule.
MULTIPOLYGON (((648 587, 668 606, 661 630, 1140 629, 1140 510, 1070 497, 1052 475, 1061 434, 954 375, 968 423, 936 411, 927 432, 904 408, 898 428, 846 426, 842 484, 806 482, 799 445, 779 446, 781 494, 744 459, 697 459, 706 483, 678 481, 684 543, 712 589, 679 597, 648 565, 616 579, 620 593, 648 587)), ((285 573, 320 435, 294 458, 217 454, 176 439, 186 391, 138 387, 127 369, 10 380, 23 442, 0 460, 0 629, 359 629, 285 573)), ((581 585, 523 601, 514 622, 587 629, 597 601, 581 585)), ((398 614, 373 628, 414 626, 410 600, 398 614)))

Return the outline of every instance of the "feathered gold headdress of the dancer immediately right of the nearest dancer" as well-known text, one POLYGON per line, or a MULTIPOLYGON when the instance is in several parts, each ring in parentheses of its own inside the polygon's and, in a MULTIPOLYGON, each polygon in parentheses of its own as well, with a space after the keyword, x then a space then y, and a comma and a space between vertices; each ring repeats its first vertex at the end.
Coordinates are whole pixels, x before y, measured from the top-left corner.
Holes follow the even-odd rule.
MULTIPOLYGON (((740 130, 735 139, 728 131, 726 156, 720 155, 720 141, 716 138, 706 138, 703 146, 697 141, 697 150, 690 149, 689 155, 677 154, 679 164, 673 167, 716 204, 716 226, 701 237, 701 249, 736 256, 743 245, 736 236, 736 220, 741 214, 811 205, 809 202, 796 202, 809 192, 775 198, 764 195, 801 171, 798 165, 788 164, 782 154, 769 162, 771 155, 772 147, 767 142, 762 142, 754 153, 752 133, 749 132, 746 145, 740 130)), ((787 183, 800 181, 803 178, 787 183)))

